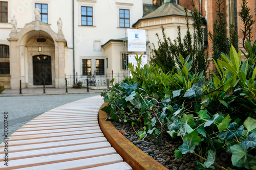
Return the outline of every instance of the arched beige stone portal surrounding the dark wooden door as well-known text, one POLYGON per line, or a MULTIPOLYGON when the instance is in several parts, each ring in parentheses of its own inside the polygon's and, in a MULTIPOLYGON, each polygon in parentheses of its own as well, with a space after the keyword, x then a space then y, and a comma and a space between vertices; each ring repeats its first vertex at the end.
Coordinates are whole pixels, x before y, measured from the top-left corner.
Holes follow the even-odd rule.
MULTIPOLYGON (((10 86, 19 89, 19 80, 23 87, 40 87, 34 83, 33 56, 49 56, 51 60, 51 83, 47 86, 65 87, 65 47, 63 34, 52 31, 49 25, 41 21, 27 23, 19 32, 11 32, 10 38, 10 86)), ((37 65, 39 66, 39 64, 37 65)), ((50 82, 50 80, 49 80, 50 82)))

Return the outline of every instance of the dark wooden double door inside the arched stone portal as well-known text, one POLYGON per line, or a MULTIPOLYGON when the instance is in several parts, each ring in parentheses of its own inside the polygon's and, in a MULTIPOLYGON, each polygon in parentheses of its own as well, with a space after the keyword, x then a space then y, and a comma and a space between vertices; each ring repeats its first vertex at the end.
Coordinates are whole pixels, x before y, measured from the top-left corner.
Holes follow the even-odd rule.
POLYGON ((52 62, 51 57, 38 55, 33 57, 34 85, 52 85, 52 62))

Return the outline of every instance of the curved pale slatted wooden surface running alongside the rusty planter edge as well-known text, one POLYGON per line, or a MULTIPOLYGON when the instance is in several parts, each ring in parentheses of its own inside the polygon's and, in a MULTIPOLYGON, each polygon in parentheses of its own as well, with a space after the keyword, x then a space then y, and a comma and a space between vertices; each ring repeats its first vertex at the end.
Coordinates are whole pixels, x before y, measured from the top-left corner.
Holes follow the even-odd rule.
POLYGON ((0 169, 132 169, 101 133, 102 103, 95 96, 34 118, 0 144, 0 169))

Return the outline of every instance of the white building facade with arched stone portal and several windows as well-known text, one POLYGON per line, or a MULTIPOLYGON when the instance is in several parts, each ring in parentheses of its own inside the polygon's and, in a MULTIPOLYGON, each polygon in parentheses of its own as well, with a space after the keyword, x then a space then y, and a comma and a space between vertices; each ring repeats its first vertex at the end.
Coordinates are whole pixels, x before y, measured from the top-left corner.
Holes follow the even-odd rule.
POLYGON ((23 88, 41 87, 45 80, 47 87, 64 88, 65 78, 75 81, 76 74, 127 73, 125 29, 154 2, 0 0, 0 84, 18 89, 21 80, 23 88))

